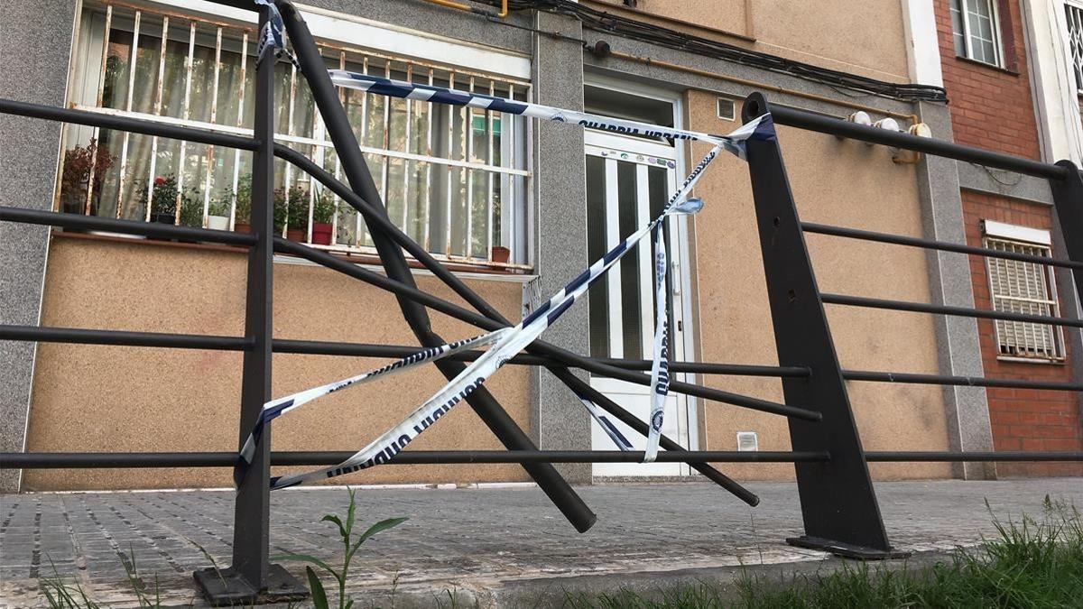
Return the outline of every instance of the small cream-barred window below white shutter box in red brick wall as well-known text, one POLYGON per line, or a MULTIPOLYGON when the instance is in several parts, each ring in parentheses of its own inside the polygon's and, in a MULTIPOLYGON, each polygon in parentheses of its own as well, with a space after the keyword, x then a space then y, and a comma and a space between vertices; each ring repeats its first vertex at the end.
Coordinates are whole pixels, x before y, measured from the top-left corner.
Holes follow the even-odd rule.
MULTIPOLYGON (((986 236, 986 247, 1031 256, 1049 257, 1044 244, 986 236)), ((986 259, 989 294, 994 311, 1059 316, 1053 268, 1046 264, 986 259)), ((1059 326, 995 320, 997 355, 1008 359, 1058 362, 1065 358, 1059 326)))

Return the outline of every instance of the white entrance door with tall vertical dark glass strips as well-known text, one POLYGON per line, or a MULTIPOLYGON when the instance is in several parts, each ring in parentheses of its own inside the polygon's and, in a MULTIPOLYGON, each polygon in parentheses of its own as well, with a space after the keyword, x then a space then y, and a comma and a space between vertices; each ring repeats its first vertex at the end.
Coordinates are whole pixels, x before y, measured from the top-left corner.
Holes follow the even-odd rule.
MULTIPOLYGON (((611 247, 637 228, 657 216, 676 189, 677 155, 662 143, 635 140, 608 133, 588 132, 587 165, 587 247, 588 258, 601 258, 611 247)), ((669 255, 669 351, 675 360, 683 359, 683 246, 682 219, 666 222, 666 250, 669 255)), ((654 337, 654 268, 651 238, 613 267, 605 278, 590 288, 590 351, 593 357, 650 359, 654 337)), ((678 378, 679 375, 674 375, 678 378)), ((642 420, 651 410, 650 387, 611 378, 592 377, 599 391, 642 420)), ((666 401, 662 432, 688 445, 688 400, 670 394, 666 401)), ((647 440, 614 419, 635 450, 643 450, 647 440)), ((591 422, 593 450, 616 450, 597 422, 591 422)), ((681 476, 688 466, 678 463, 595 464, 595 476, 681 476)))

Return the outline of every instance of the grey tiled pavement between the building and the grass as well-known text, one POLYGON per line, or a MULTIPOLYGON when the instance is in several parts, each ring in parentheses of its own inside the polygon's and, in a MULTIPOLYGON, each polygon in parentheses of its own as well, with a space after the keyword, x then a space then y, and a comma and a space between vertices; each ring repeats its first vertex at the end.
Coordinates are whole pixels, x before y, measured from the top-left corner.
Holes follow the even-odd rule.
MULTIPOLYGON (((749 508, 714 485, 597 485, 578 489, 598 514, 576 533, 535 488, 361 489, 358 527, 393 516, 410 519, 368 542, 357 556, 351 589, 429 591, 486 582, 595 573, 824 560, 824 553, 785 545, 801 532, 796 487, 749 483, 762 503, 749 508)), ((1083 507, 1083 480, 880 482, 876 484, 892 543, 911 552, 950 550, 995 533, 999 518, 1038 515, 1048 493, 1083 507), (990 508, 986 508, 986 501, 990 508)), ((338 559, 334 527, 342 490, 300 489, 273 495, 272 554, 296 552, 338 559)), ((79 578, 102 598, 128 588, 125 561, 157 574, 164 594, 192 599, 191 571, 229 565, 233 493, 152 492, 0 496, 0 606, 34 606, 39 578, 79 578), (123 555, 123 557, 121 557, 123 555)), ((287 563, 296 573, 299 563, 287 563)), ((112 595, 112 596, 110 596, 112 595)), ((39 598, 40 600, 40 598, 39 598)))

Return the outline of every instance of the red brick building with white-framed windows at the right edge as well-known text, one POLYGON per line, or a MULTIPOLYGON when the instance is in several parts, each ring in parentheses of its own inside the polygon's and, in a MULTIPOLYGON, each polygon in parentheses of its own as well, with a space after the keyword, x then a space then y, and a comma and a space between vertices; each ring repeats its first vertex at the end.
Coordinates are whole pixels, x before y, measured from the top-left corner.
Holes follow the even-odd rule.
MULTIPOLYGON (((955 141, 1038 160, 1081 155, 1083 4, 1071 1, 936 3, 943 85, 955 141), (1054 61, 1044 62, 1047 57, 1054 61)), ((970 245, 1064 254, 1048 190, 1039 180, 960 164, 970 245)), ((1077 311, 1070 273, 971 257, 975 303, 1000 311, 1077 311)), ((982 365, 997 378, 1068 381, 1079 374, 1079 331, 980 320, 982 365)), ((1065 391, 988 390, 999 451, 1080 451, 1080 402, 1065 391)), ((1079 464, 1000 464, 1001 475, 1083 472, 1079 464)))

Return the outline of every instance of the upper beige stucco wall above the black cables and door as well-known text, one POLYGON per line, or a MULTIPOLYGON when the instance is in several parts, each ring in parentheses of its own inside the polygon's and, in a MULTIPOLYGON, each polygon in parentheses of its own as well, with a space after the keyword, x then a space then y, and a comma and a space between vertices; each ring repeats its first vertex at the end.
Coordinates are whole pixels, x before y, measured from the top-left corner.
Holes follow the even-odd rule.
MULTIPOLYGON (((586 3, 623 2, 586 0, 586 3)), ((671 29, 880 80, 910 80, 899 0, 817 0, 811 4, 793 0, 639 0, 638 9, 754 38, 755 42, 658 22, 671 29)), ((641 14, 636 13, 636 17, 641 18, 641 14)), ((614 50, 623 49, 615 44, 614 50)))

